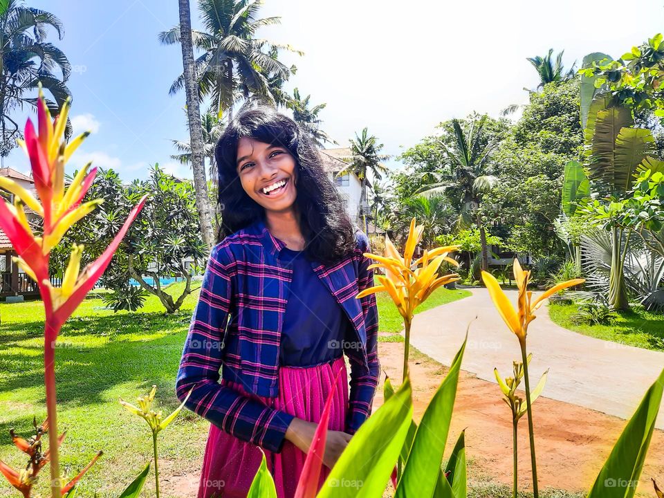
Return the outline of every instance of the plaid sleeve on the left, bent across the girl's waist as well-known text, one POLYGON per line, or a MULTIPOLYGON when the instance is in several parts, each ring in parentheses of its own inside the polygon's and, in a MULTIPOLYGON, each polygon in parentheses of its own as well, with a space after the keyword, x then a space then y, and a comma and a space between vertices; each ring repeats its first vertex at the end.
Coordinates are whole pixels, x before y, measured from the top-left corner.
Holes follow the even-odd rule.
POLYGON ((294 416, 219 384, 223 336, 233 304, 233 261, 228 247, 217 245, 210 253, 178 369, 176 395, 185 400, 192 389, 185 407, 242 441, 280 452, 294 416))

